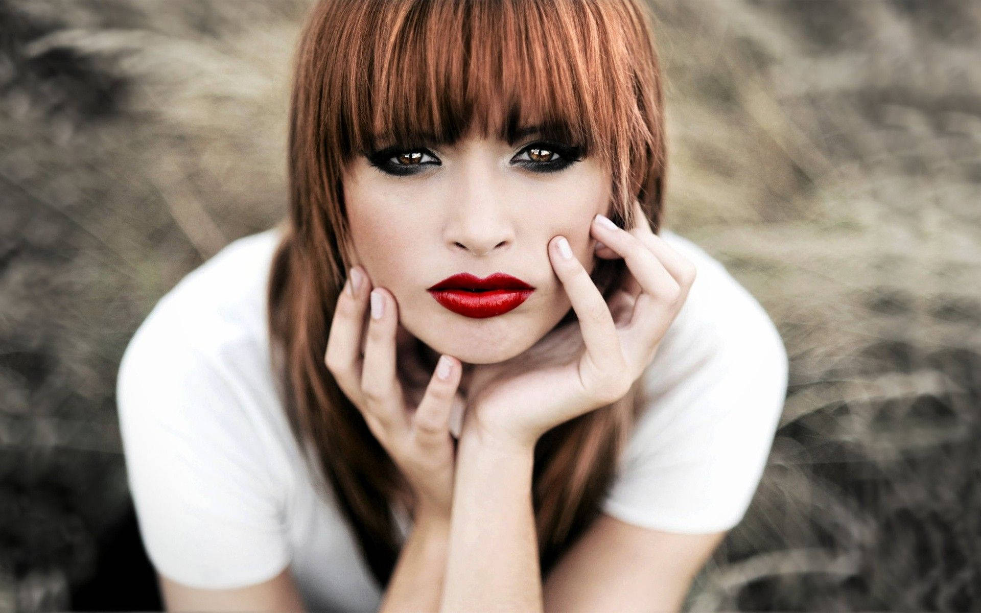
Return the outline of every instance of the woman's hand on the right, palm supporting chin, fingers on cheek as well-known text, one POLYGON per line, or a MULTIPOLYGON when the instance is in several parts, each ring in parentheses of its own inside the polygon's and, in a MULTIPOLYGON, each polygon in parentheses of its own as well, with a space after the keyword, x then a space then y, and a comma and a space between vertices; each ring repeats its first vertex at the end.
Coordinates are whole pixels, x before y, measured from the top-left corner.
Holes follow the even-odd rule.
POLYGON ((597 255, 622 257, 630 271, 609 304, 568 243, 561 244, 565 238, 552 238, 548 257, 578 317, 582 348, 530 371, 508 362, 475 367, 461 437, 534 448, 545 432, 616 402, 640 378, 688 297, 696 267, 653 233, 637 202, 634 211, 632 230, 600 216, 590 230, 605 245, 597 255))

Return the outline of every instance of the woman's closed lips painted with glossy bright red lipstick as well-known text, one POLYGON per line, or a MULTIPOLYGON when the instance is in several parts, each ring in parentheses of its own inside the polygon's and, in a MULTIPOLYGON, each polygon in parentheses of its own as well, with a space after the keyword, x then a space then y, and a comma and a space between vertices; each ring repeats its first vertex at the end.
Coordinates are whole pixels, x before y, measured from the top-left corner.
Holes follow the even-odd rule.
POLYGON ((504 273, 494 273, 487 279, 461 273, 439 281, 428 291, 453 313, 483 319, 516 308, 532 295, 535 287, 504 273))

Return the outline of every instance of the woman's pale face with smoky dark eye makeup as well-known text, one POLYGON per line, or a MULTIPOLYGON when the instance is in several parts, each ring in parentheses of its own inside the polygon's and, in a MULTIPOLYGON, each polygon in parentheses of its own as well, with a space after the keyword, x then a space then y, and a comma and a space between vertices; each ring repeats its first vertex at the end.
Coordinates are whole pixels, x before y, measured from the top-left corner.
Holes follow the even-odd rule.
POLYGON ((358 156, 345 169, 343 193, 351 261, 395 296, 405 331, 462 362, 490 364, 524 352, 568 312, 548 241, 565 236, 592 273, 590 225, 608 212, 610 177, 594 157, 538 133, 514 143, 468 135, 358 156), (429 290, 461 273, 503 273, 535 289, 499 315, 475 317, 480 304, 464 315, 429 290))

